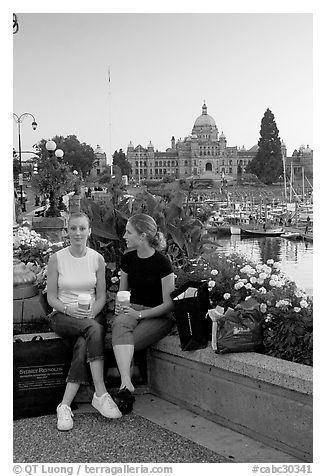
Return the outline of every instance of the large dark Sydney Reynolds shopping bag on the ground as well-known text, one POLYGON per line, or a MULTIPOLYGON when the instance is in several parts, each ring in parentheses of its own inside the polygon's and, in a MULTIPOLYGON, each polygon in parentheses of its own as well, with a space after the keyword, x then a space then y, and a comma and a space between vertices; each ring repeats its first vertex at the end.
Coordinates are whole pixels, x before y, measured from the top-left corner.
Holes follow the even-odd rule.
POLYGON ((20 334, 13 347, 14 419, 55 413, 66 386, 71 340, 53 332, 20 334))

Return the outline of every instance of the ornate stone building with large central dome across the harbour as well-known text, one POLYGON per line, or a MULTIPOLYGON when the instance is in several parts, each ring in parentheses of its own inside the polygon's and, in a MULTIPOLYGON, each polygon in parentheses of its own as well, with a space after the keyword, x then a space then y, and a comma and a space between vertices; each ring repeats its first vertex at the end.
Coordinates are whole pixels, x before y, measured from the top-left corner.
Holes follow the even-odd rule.
POLYGON ((255 153, 244 147, 240 150, 237 146, 227 146, 225 134, 223 131, 219 134, 204 102, 202 113, 196 118, 189 136, 177 141, 172 136, 171 147, 165 152, 154 151, 151 142, 147 148, 134 147, 130 143, 127 160, 136 181, 162 179, 167 175, 221 180, 222 177, 236 178, 239 166, 244 168, 255 153))

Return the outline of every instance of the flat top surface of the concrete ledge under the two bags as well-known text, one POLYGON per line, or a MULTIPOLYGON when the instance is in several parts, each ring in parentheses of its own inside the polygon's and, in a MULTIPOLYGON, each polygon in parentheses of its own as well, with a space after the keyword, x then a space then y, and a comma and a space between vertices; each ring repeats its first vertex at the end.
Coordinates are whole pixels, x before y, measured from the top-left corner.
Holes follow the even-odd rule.
POLYGON ((210 346, 195 351, 182 351, 179 337, 175 335, 165 337, 153 345, 152 349, 306 395, 313 393, 313 369, 308 365, 288 362, 256 352, 215 354, 210 346))

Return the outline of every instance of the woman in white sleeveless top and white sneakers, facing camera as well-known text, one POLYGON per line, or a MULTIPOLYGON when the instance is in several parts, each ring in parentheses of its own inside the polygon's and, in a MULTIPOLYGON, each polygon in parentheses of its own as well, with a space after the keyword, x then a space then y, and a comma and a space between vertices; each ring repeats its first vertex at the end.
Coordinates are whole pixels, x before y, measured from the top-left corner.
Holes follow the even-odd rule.
POLYGON ((88 365, 94 382, 92 405, 107 418, 121 412, 104 384, 104 337, 99 313, 106 302, 105 262, 102 255, 87 247, 91 233, 84 213, 74 213, 68 221, 70 246, 51 256, 47 273, 47 297, 54 313, 53 330, 61 337, 76 338, 62 402, 57 407, 57 428, 71 430, 70 405, 80 384, 87 384, 88 365), (90 295, 89 309, 78 306, 79 294, 90 295))

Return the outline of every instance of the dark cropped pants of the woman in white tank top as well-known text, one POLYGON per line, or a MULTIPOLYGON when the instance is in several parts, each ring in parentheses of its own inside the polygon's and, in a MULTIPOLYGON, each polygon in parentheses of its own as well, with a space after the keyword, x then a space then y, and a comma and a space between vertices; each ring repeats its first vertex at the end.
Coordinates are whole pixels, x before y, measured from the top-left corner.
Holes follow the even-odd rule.
POLYGON ((50 319, 53 331, 60 337, 74 339, 73 356, 67 382, 90 383, 88 363, 104 359, 105 330, 100 316, 94 319, 77 319, 56 312, 50 319))

